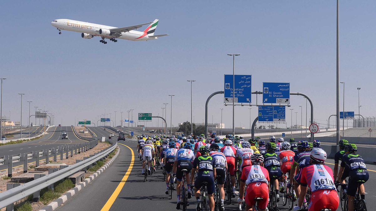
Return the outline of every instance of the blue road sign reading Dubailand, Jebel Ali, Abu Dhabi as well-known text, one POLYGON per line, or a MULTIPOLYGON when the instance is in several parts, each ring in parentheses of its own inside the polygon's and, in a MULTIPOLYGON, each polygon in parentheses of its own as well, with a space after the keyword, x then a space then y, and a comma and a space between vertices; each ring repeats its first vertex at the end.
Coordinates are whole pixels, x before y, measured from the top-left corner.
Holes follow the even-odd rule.
POLYGON ((235 93, 233 89, 233 76, 224 75, 224 103, 232 103, 234 95, 235 103, 251 103, 252 75, 235 75, 235 93))

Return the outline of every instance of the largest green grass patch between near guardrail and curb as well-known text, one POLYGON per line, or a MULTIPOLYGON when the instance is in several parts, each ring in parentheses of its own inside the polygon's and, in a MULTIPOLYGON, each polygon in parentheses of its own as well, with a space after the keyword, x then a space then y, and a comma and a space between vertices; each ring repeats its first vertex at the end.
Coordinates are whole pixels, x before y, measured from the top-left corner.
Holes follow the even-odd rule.
POLYGON ((40 201, 47 205, 53 200, 61 196, 61 194, 74 187, 73 182, 70 179, 65 179, 54 185, 54 190, 47 190, 46 188, 41 190, 40 201))

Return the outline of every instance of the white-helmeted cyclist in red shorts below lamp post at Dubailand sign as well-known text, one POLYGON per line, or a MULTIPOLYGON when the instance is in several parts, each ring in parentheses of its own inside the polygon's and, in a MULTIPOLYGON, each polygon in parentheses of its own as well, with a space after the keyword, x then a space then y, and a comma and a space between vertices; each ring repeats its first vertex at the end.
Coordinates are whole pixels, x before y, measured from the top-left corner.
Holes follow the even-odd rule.
POLYGON ((226 156, 228 170, 231 176, 232 194, 231 197, 235 197, 235 155, 237 149, 232 146, 232 140, 227 139, 224 142, 224 147, 222 147, 221 152, 226 156))

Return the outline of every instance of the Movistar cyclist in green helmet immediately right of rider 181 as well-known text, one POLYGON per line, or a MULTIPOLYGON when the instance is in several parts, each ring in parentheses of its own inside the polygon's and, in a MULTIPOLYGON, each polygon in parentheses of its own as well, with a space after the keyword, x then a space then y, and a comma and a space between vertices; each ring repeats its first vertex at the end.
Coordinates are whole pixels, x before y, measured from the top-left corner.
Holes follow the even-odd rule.
POLYGON ((269 176, 276 178, 274 180, 274 187, 276 188, 276 196, 277 202, 279 202, 279 183, 278 180, 282 176, 282 170, 280 168, 279 157, 275 153, 276 151, 276 144, 273 142, 269 142, 265 145, 266 153, 264 155, 264 166, 269 172, 269 176))

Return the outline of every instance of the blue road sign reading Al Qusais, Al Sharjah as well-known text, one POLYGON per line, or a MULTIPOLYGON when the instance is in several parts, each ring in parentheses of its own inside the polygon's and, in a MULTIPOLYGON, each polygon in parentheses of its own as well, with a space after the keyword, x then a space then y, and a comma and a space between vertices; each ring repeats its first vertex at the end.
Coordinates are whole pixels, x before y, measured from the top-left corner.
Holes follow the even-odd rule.
POLYGON ((262 84, 263 103, 290 103, 290 83, 264 82, 262 84))

